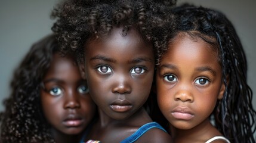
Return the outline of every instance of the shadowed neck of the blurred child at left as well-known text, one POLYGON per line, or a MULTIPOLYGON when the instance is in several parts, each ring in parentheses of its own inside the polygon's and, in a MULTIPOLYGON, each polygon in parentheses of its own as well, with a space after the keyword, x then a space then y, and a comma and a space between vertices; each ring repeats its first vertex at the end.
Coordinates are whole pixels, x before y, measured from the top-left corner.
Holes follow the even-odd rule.
POLYGON ((78 135, 67 135, 55 129, 52 129, 51 132, 53 134, 53 138, 56 143, 68 143, 68 142, 75 143, 75 142, 79 142, 80 139, 82 138, 82 133, 79 133, 78 135))

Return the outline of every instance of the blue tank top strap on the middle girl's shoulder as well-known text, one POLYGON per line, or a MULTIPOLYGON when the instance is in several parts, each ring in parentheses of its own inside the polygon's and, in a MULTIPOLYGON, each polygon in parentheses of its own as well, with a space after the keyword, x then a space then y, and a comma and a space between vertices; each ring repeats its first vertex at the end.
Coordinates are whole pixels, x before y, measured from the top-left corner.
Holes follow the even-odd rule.
POLYGON ((164 128, 162 128, 161 125, 159 125, 156 122, 150 122, 150 123, 146 123, 145 125, 141 126, 136 132, 132 133, 131 136, 129 136, 128 138, 124 139, 123 141, 121 141, 121 143, 131 143, 131 142, 135 142, 137 141, 138 138, 140 138, 144 133, 146 133, 148 130, 152 129, 152 128, 158 128, 161 130, 164 130, 164 132, 166 132, 166 130, 164 128))

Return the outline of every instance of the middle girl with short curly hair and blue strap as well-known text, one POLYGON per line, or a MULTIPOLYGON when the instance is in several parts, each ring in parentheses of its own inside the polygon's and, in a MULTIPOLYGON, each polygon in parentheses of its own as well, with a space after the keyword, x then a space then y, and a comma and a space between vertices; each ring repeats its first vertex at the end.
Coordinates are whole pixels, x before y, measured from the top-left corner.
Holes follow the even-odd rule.
MULTIPOLYGON (((171 142, 143 104, 155 69, 151 31, 167 10, 153 1, 66 1, 53 15, 63 52, 75 52, 100 118, 87 139, 171 142)), ((159 31, 160 32, 160 31, 159 31)))

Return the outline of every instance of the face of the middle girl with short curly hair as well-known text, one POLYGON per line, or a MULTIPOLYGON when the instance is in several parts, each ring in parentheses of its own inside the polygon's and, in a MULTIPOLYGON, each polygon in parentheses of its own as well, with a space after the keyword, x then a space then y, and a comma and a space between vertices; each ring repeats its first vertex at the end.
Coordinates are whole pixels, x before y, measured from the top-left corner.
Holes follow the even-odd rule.
POLYGON ((134 29, 122 36, 114 28, 101 41, 85 45, 85 73, 90 95, 107 116, 127 119, 146 102, 154 73, 152 45, 134 29))

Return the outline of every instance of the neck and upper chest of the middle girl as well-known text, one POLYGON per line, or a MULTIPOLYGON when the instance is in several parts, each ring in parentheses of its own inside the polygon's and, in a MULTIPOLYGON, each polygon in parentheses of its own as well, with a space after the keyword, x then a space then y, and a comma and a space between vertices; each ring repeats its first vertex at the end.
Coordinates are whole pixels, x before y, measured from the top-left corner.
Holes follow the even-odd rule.
POLYGON ((104 142, 119 142, 124 136, 134 133, 145 123, 152 122, 144 108, 140 108, 128 119, 116 120, 107 116, 102 110, 98 109, 99 119, 92 127, 87 139, 96 139, 104 142), (114 140, 113 140, 114 139, 114 140))

